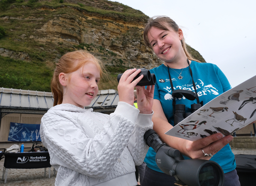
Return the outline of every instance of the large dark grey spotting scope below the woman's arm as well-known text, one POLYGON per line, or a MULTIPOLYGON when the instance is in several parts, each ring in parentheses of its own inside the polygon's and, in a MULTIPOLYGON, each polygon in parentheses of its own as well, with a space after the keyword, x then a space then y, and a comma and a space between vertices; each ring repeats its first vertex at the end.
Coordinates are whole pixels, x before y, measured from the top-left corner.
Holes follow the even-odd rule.
POLYGON ((165 174, 174 176, 175 185, 222 186, 224 173, 220 165, 211 160, 184 159, 180 151, 167 146, 150 129, 144 134, 149 147, 156 152, 156 164, 165 174))

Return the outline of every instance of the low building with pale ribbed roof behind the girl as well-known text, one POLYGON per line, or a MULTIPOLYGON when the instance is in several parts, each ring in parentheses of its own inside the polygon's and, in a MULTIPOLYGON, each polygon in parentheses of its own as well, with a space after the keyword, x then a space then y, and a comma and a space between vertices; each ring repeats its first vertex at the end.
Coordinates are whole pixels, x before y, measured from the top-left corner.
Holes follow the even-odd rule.
MULTIPOLYGON (((94 112, 110 114, 115 111, 119 96, 116 90, 99 90, 91 105, 94 112)), ((51 92, 0 88, 0 151, 9 148, 10 123, 40 124, 43 115, 53 106, 51 92)), ((25 143, 27 148, 31 143, 25 143)))

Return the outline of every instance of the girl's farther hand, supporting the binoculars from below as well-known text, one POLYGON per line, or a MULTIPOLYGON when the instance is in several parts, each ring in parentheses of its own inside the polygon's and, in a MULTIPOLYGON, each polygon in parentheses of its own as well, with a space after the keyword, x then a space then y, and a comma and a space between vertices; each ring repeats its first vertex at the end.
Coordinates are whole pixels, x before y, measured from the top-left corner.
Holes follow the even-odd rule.
POLYGON ((136 86, 137 104, 141 114, 152 113, 154 89, 155 89, 154 85, 147 86, 147 89, 145 89, 145 87, 136 86))

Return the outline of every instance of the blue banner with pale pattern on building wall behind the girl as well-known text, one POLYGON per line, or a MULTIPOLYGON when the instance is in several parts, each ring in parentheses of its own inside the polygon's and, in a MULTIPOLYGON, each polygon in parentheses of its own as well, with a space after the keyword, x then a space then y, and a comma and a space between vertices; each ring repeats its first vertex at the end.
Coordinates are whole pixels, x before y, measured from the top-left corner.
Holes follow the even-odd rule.
POLYGON ((41 141, 40 124, 10 122, 8 141, 41 141))

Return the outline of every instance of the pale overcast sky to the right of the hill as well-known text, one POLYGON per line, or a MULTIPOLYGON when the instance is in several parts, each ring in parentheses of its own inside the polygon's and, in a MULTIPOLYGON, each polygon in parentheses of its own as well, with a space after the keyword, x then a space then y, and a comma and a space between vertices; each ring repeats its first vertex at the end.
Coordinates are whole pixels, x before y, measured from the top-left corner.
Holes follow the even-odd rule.
POLYGON ((117 0, 149 17, 166 15, 186 43, 217 64, 232 87, 256 75, 256 1, 117 0))

